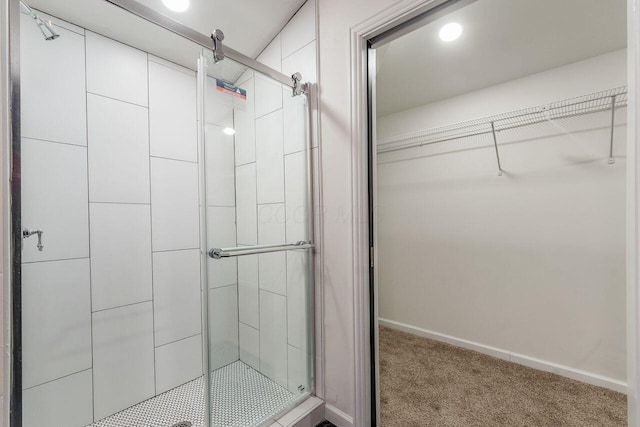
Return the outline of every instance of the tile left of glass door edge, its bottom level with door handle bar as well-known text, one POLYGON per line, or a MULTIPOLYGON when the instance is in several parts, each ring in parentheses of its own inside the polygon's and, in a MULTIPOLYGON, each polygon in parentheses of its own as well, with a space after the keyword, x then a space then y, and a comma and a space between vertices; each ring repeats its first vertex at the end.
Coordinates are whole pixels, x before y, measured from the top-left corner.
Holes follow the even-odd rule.
POLYGON ((200 246, 198 165, 151 159, 153 250, 200 246))

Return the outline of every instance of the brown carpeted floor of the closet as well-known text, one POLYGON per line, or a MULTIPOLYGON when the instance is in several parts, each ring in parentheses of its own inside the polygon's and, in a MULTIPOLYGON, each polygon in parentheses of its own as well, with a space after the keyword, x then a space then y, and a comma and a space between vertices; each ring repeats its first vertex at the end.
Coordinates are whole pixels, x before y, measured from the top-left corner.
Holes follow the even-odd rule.
POLYGON ((382 427, 626 426, 627 398, 380 328, 382 427))

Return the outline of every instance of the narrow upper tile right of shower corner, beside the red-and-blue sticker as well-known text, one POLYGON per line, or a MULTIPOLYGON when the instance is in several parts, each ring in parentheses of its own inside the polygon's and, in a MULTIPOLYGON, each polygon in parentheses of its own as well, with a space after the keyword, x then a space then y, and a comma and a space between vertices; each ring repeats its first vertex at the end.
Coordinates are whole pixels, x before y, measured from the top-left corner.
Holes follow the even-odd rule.
POLYGON ((245 110, 234 111, 236 165, 256 161, 255 80, 251 77, 240 85, 247 91, 245 110))

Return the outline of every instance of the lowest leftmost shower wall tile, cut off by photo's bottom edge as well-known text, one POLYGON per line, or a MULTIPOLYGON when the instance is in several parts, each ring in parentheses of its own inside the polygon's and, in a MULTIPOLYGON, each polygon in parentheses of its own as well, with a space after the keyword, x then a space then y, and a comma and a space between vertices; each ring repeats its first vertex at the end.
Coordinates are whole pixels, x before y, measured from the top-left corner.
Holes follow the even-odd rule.
POLYGON ((93 422, 91 370, 24 391, 24 427, 84 427, 93 422))

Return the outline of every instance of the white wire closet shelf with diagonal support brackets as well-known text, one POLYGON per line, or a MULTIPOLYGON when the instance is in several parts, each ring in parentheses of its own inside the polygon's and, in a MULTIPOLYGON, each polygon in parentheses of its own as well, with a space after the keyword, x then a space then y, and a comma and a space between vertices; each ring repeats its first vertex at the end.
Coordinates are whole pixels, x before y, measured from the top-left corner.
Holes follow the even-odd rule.
MULTIPOLYGON (((378 140, 377 152, 390 153, 409 148, 422 147, 439 142, 453 141, 479 135, 493 134, 496 149, 498 170, 501 174, 500 156, 496 133, 508 129, 515 129, 537 123, 576 117, 585 114, 611 111, 611 147, 613 147, 613 126, 615 110, 627 106, 627 87, 620 86, 613 89, 595 92, 576 98, 564 99, 550 104, 529 107, 522 110, 467 120, 446 126, 426 129, 406 135, 393 136, 378 140)), ((609 163, 613 163, 613 153, 610 150, 609 163)))

